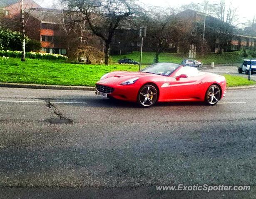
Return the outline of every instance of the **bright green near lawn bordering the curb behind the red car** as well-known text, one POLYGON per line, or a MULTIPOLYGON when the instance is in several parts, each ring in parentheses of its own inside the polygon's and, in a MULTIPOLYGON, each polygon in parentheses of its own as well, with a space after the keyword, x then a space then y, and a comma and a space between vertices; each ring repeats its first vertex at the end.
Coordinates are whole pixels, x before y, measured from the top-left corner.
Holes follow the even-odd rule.
MULTIPOLYGON (((138 71, 139 66, 85 65, 38 59, 27 59, 26 62, 21 62, 20 58, 0 59, 0 82, 94 86, 102 75, 115 70, 138 71)), ((256 83, 239 76, 226 74, 224 76, 230 87, 256 83)))

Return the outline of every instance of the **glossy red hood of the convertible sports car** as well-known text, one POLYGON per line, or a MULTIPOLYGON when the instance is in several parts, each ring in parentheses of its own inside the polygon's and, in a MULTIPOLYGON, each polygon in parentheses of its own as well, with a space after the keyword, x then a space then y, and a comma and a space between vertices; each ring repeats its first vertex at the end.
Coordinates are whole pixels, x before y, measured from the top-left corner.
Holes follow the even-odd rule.
POLYGON ((99 80, 97 83, 122 83, 126 80, 132 78, 139 78, 144 76, 159 76, 151 73, 142 73, 142 72, 127 72, 127 71, 116 71, 109 73, 104 79, 99 80))

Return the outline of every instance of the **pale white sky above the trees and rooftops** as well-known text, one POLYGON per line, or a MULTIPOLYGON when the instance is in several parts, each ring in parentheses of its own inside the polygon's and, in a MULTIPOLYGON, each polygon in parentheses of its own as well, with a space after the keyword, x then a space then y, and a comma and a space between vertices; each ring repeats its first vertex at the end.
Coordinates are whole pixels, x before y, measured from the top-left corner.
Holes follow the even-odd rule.
MULTIPOLYGON (((138 0, 141 3, 146 5, 154 5, 154 6, 162 6, 162 7, 179 7, 184 4, 189 4, 191 2, 194 3, 202 3, 203 0, 138 0)), ((53 0, 35 0, 42 7, 50 7, 52 5, 53 0)), ((216 4, 219 0, 209 0, 210 4, 216 4)), ((226 0, 229 5, 232 2, 233 7, 237 8, 237 15, 239 23, 245 23, 248 20, 254 18, 256 16, 256 0, 226 0)))

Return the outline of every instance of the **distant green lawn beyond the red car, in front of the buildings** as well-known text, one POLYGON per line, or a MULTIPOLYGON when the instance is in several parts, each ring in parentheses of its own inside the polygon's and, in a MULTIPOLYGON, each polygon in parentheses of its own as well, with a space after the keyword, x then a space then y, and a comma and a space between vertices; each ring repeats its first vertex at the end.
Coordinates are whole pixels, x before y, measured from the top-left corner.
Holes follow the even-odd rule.
MULTIPOLYGON (((142 57, 143 64, 152 64, 155 53, 144 52, 142 57)), ((134 51, 128 55, 117 55, 112 56, 112 61, 118 63, 118 60, 121 58, 131 58, 139 62, 140 52, 134 51)), ((171 63, 181 63, 183 59, 187 59, 188 55, 184 53, 161 53, 159 57, 159 62, 171 62, 171 63)), ((201 55, 197 55, 197 60, 201 61, 201 55)), ((241 57, 241 51, 228 52, 223 54, 210 53, 205 55, 203 58, 204 64, 211 64, 214 61, 215 64, 225 64, 225 63, 242 63, 243 57, 241 57)))

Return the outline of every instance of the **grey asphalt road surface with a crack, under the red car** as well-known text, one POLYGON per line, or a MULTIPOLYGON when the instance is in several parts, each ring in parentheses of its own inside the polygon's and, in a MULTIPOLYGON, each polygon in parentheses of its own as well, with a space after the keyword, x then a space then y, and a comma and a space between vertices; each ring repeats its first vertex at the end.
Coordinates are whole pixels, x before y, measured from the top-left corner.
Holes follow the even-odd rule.
POLYGON ((255 102, 250 89, 213 107, 143 109, 90 91, 0 88, 0 198, 254 198, 255 102), (154 186, 179 183, 253 187, 154 186))

